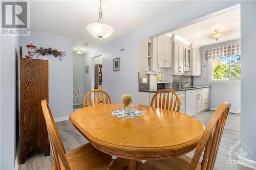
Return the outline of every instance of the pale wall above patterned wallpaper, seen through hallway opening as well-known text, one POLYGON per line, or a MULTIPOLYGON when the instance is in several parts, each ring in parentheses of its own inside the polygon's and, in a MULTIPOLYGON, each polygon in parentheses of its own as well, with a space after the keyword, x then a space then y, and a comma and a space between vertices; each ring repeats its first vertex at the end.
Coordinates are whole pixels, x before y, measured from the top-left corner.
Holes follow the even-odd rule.
POLYGON ((83 75, 86 71, 83 58, 84 55, 77 56, 73 53, 73 85, 83 85, 83 75))

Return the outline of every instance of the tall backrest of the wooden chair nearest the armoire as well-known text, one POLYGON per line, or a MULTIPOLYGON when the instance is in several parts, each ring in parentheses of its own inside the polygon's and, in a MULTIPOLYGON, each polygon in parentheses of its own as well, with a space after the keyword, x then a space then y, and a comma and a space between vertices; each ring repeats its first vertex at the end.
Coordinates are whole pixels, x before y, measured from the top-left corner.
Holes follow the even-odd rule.
POLYGON ((44 113, 46 126, 49 134, 49 139, 51 143, 51 149, 53 153, 53 161, 55 165, 55 169, 60 170, 59 158, 65 167, 66 170, 70 170, 69 163, 65 156, 66 150, 61 141, 57 126, 54 122, 54 118, 52 116, 51 110, 46 100, 41 101, 42 112, 44 113))

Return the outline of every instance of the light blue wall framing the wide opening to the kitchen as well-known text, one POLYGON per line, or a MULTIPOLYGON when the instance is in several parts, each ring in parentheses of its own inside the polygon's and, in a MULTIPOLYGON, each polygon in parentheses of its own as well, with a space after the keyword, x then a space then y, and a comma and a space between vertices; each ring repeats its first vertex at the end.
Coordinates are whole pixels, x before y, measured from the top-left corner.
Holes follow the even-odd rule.
MULTIPOLYGON (((113 102, 120 103, 122 93, 133 95, 134 103, 139 102, 138 93, 138 40, 174 31, 203 19, 219 15, 225 8, 241 3, 241 139, 253 154, 246 158, 256 161, 256 79, 255 79, 255 30, 256 14, 253 1, 193 1, 133 32, 119 37, 108 44, 86 54, 85 61, 102 54, 103 89, 112 96, 113 102), (212 14, 214 13, 214 14, 212 14), (209 16, 207 16, 209 15, 209 16), (125 45, 119 51, 119 45, 125 45), (120 57, 120 71, 113 71, 113 58, 120 57), (243 68, 244 71, 243 72, 243 68), (248 102, 249 101, 249 102, 248 102), (248 122, 246 122, 248 121, 248 122)), ((89 83, 90 74, 86 74, 84 83, 89 83)), ((89 83, 90 84, 90 83, 89 83)))

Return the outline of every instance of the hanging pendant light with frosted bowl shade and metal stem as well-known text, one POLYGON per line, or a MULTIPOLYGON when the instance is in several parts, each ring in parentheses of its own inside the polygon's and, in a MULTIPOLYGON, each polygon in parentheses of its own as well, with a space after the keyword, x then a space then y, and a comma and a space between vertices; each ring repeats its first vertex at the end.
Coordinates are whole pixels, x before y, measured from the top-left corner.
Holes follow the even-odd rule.
POLYGON ((99 40, 102 38, 109 37, 113 32, 113 28, 103 23, 101 0, 99 1, 99 19, 98 23, 91 23, 87 26, 87 30, 93 36, 98 37, 99 40))

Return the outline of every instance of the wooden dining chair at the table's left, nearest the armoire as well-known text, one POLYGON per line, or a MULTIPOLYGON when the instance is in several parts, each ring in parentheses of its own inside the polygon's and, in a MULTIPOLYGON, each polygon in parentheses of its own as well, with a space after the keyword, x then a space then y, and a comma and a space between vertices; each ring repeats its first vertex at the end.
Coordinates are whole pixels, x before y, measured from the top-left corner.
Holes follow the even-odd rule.
POLYGON ((112 156, 100 152, 90 143, 66 152, 47 101, 42 100, 41 106, 53 154, 51 169, 108 169, 112 165, 112 156))

